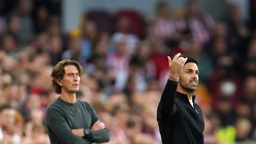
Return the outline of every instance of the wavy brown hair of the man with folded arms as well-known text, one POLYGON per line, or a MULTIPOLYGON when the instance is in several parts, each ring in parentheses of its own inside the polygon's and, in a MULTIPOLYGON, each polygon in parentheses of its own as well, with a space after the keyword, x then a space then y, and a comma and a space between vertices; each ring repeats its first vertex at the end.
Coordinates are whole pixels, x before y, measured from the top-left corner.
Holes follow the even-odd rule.
POLYGON ((52 82, 51 85, 54 88, 56 94, 61 93, 61 86, 57 83, 58 80, 63 79, 65 74, 65 66, 67 65, 75 65, 78 69, 79 76, 84 74, 82 66, 75 60, 65 59, 58 62, 53 68, 51 73, 52 82))

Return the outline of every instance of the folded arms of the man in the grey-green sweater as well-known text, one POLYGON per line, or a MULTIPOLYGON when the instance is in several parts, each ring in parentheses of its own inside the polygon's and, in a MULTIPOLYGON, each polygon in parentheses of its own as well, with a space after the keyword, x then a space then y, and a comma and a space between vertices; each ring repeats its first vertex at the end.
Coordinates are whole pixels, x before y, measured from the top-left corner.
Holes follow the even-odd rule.
MULTIPOLYGON (((102 122, 99 122, 99 118, 96 112, 92 111, 92 123, 90 134, 84 135, 84 129, 70 129, 64 115, 57 109, 52 109, 49 113, 46 113, 46 121, 48 127, 58 137, 63 144, 92 144, 103 143, 109 141, 109 132, 105 128, 102 122)), ((49 133, 49 137, 51 135, 49 133)))

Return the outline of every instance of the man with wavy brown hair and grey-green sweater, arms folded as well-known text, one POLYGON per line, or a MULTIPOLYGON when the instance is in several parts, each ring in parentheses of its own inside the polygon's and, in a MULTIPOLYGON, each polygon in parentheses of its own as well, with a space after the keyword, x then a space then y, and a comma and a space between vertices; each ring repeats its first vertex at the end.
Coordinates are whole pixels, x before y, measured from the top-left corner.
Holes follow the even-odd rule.
POLYGON ((46 110, 51 144, 92 144, 109 141, 109 132, 90 104, 76 99, 83 69, 77 61, 62 60, 51 73, 60 97, 46 110))

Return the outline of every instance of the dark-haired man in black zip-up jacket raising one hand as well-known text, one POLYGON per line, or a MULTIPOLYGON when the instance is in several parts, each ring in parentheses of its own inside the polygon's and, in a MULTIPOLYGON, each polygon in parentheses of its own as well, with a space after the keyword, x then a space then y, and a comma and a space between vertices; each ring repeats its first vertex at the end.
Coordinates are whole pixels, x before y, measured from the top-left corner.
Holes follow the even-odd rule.
POLYGON ((198 61, 168 57, 170 75, 157 109, 163 144, 203 144, 204 119, 192 95, 198 84, 198 61))

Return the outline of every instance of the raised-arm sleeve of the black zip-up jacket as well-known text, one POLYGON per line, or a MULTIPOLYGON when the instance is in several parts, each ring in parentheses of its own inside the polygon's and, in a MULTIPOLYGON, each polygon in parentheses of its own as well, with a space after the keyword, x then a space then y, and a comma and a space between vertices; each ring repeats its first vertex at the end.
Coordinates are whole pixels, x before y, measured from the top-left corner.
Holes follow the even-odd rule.
POLYGON ((165 118, 172 118, 178 111, 178 105, 175 103, 177 84, 167 81, 161 100, 158 105, 157 113, 165 118))

